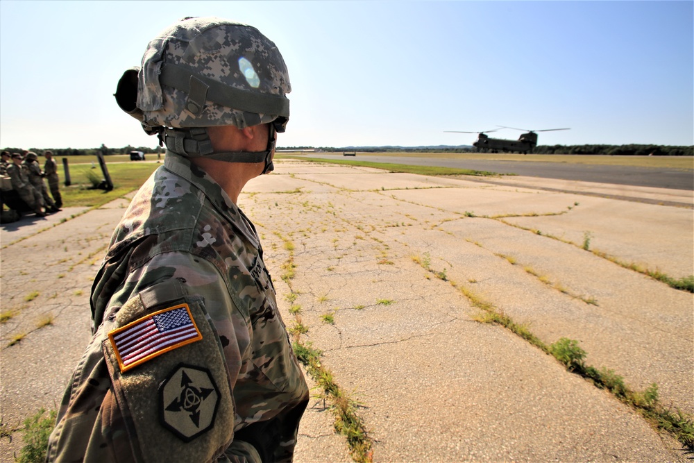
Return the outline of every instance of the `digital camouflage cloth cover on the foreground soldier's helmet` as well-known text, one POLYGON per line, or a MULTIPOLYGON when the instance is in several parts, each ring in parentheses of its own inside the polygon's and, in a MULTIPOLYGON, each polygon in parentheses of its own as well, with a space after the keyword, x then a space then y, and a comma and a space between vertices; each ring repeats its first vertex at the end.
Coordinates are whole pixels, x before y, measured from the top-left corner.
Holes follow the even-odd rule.
POLYGON ((246 128, 288 117, 289 92, 280 51, 256 28, 185 18, 149 42, 137 75, 142 113, 133 116, 150 127, 246 128))

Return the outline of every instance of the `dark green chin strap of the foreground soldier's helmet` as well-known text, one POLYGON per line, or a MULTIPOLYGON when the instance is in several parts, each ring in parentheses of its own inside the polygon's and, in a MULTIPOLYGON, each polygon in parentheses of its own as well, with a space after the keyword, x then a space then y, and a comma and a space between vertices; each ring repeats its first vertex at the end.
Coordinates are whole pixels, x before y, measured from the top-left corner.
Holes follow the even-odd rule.
POLYGON ((169 151, 187 158, 206 158, 224 162, 264 162, 262 174, 273 171, 272 153, 275 150, 275 128, 269 124, 267 147, 264 151, 221 151, 214 153, 212 141, 204 127, 164 128, 160 140, 169 151))

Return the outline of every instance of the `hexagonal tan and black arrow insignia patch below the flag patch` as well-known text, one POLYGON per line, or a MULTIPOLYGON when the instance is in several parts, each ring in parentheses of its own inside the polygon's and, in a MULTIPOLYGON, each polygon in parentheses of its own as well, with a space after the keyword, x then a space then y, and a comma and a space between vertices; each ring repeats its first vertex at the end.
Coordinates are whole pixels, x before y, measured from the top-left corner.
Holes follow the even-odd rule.
POLYGON ((208 369, 180 363, 159 387, 161 420, 185 442, 212 429, 219 389, 208 369))

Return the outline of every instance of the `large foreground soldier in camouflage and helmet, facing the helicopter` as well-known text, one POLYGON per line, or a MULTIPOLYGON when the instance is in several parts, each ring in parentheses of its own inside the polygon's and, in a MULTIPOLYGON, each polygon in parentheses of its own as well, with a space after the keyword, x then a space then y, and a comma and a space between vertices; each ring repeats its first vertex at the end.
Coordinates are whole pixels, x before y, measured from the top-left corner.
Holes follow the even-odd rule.
POLYGON ((49 462, 289 462, 308 389, 251 221, 291 90, 257 29, 186 18, 149 43, 116 99, 167 147, 92 286, 94 337, 49 462))

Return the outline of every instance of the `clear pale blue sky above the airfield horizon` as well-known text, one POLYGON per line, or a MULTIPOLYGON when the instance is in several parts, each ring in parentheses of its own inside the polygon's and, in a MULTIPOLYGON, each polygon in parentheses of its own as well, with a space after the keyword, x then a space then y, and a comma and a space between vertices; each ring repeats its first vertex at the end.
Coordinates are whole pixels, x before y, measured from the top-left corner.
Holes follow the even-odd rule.
POLYGON ((279 146, 694 144, 693 1, 0 0, 0 146, 156 146, 112 96, 185 16, 252 24, 289 67, 279 146), (520 132, 494 135, 516 138, 520 132))

